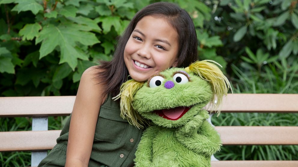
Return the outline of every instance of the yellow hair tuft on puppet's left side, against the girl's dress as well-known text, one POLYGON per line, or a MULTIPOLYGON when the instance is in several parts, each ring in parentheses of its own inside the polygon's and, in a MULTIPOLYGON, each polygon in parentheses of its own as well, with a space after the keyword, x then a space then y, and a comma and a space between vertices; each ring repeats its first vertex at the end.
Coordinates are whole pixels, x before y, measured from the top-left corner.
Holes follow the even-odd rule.
POLYGON ((143 128, 143 125, 148 125, 146 119, 135 111, 132 107, 133 96, 143 86, 144 82, 135 81, 133 79, 126 81, 120 86, 120 93, 112 99, 120 99, 120 116, 127 119, 129 124, 138 128, 143 128))

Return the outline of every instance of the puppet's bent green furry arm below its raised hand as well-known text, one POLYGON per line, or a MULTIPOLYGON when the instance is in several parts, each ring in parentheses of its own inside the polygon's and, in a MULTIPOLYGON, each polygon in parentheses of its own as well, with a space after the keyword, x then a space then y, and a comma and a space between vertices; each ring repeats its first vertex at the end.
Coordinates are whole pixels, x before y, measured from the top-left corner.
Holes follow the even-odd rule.
POLYGON ((207 121, 202 123, 198 133, 189 137, 179 136, 178 140, 188 149, 205 156, 216 153, 222 145, 219 134, 207 121))

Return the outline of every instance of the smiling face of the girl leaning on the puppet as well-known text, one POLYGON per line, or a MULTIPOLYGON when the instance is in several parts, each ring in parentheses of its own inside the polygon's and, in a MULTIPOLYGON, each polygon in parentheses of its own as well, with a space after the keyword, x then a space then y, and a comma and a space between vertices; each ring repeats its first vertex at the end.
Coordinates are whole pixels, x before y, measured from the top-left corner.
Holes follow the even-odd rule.
POLYGON ((177 66, 178 47, 178 33, 165 18, 143 17, 124 49, 129 75, 136 81, 146 81, 151 75, 177 66))

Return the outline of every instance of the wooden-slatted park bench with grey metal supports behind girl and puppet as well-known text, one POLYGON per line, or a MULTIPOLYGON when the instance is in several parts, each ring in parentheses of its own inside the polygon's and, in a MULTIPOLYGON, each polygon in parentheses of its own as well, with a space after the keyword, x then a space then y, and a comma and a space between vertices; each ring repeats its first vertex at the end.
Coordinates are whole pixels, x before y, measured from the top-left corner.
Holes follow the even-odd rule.
MULTIPOLYGON (((0 132, 0 151, 32 151, 31 165, 47 155, 61 130, 47 130, 48 116, 67 116, 75 96, 0 97, 0 117, 33 117, 32 131, 0 132)), ((222 113, 298 113, 298 94, 229 94, 222 113)), ((298 145, 298 127, 217 126, 223 145, 298 145)), ((212 167, 297 167, 298 161, 218 161, 212 167)))

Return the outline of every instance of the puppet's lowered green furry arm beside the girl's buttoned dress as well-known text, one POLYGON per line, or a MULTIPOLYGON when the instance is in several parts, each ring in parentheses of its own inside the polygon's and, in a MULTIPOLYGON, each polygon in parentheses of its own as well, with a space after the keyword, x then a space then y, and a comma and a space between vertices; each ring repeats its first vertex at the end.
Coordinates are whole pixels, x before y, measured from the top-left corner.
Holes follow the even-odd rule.
POLYGON ((152 166, 152 141, 158 133, 157 126, 148 127, 142 134, 135 152, 135 167, 152 166))

